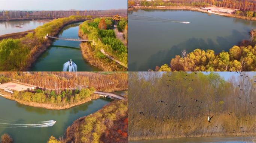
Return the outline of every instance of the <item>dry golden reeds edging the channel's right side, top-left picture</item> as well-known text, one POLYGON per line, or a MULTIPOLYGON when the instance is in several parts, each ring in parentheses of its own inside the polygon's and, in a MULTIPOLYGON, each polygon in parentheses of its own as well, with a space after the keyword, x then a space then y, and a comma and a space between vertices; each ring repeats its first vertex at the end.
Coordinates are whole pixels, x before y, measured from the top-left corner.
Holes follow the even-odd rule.
MULTIPOLYGON (((88 36, 85 35, 80 28, 79 28, 78 35, 83 39, 88 38, 88 36)), ((80 47, 81 47, 83 58, 85 58, 85 60, 91 66, 97 67, 102 71, 127 71, 125 67, 119 65, 115 61, 112 61, 107 57, 100 58, 99 56, 97 56, 95 51, 96 49, 92 48, 88 42, 82 42, 80 44, 80 47)))

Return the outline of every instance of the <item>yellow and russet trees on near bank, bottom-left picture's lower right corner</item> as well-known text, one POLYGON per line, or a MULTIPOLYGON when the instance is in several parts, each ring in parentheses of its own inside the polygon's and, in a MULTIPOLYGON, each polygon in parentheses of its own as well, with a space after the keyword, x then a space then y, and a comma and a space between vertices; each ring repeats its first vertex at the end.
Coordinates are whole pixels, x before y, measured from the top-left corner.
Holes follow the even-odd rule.
POLYGON ((113 101, 99 111, 81 117, 67 128, 65 138, 51 136, 48 143, 127 143, 127 100, 113 101))

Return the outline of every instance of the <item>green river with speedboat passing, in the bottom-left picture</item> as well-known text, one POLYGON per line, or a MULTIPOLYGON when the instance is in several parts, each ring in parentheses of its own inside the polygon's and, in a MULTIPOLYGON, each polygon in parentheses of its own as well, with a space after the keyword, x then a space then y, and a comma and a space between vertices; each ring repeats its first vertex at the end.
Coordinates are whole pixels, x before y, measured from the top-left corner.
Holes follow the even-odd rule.
MULTIPOLYGON (((113 93, 119 95, 126 94, 124 91, 113 93)), ((50 110, 22 105, 0 96, 1 123, 35 124, 40 121, 57 121, 52 127, 38 128, 6 128, 7 125, 1 124, 0 135, 4 133, 9 134, 15 143, 46 143, 51 135, 56 138, 63 136, 67 127, 70 126, 74 120, 98 111, 111 101, 112 99, 98 98, 69 109, 50 110)))

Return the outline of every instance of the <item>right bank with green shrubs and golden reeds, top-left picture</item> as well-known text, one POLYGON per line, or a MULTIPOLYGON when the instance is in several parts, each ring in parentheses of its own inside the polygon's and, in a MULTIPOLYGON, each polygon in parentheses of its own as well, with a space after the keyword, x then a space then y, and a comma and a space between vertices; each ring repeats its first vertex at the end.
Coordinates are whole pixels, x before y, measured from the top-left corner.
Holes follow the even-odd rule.
POLYGON ((127 71, 125 67, 110 60, 100 51, 103 49, 107 54, 127 64, 127 47, 116 38, 113 22, 110 18, 96 18, 83 22, 79 26, 79 36, 93 41, 90 45, 81 44, 82 51, 84 51, 82 52, 83 57, 90 64, 107 71, 127 71), (100 20, 104 21, 105 26, 103 26, 103 29, 99 28, 100 20))

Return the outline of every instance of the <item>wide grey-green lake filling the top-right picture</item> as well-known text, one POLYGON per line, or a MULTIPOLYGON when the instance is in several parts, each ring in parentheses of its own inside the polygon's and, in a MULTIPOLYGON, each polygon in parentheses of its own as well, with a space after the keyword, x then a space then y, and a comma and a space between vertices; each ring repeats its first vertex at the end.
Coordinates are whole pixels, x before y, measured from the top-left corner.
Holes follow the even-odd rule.
POLYGON ((256 21, 229 18, 190 10, 133 10, 128 14, 129 71, 147 71, 170 64, 182 50, 212 49, 228 51, 256 28, 256 21), (150 21, 149 18, 162 18, 150 21))

